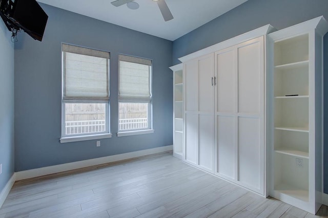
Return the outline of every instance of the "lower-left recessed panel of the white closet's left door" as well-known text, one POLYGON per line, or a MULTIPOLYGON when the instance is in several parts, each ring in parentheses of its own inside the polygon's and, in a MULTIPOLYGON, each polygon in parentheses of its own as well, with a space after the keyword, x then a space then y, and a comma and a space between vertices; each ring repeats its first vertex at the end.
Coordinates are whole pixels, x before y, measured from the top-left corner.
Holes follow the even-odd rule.
POLYGON ((197 164, 198 153, 198 114, 186 114, 185 159, 197 164))

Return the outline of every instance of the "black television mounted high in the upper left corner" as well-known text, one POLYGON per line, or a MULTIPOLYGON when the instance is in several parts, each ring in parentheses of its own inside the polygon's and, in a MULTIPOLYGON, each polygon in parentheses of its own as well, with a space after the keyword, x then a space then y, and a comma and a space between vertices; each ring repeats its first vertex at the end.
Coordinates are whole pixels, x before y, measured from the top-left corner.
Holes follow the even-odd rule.
POLYGON ((48 15, 35 0, 14 0, 13 3, 12 0, 0 0, 0 2, 0 10, 2 15, 5 15, 2 17, 6 19, 4 19, 5 22, 9 22, 8 25, 6 24, 7 27, 10 26, 11 29, 16 30, 20 28, 33 39, 42 41, 48 15), (4 11, 5 5, 7 5, 7 10, 4 11))

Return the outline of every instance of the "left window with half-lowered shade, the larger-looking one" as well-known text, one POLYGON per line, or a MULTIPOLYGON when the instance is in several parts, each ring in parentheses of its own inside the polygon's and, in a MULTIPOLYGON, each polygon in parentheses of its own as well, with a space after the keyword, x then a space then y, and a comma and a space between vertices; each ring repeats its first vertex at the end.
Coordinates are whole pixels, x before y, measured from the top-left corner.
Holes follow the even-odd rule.
POLYGON ((63 118, 60 142, 110 137, 110 54, 69 44, 62 44, 62 51, 63 118))

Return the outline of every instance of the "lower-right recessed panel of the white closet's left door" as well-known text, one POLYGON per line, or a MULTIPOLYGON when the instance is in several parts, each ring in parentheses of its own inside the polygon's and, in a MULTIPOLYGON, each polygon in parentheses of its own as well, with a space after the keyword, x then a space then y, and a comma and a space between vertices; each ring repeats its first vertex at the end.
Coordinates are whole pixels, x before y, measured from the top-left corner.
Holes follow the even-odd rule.
MULTIPOLYGON (((199 115, 199 166, 213 171, 214 120, 212 114, 199 115)), ((213 172, 212 172, 213 173, 213 172)))

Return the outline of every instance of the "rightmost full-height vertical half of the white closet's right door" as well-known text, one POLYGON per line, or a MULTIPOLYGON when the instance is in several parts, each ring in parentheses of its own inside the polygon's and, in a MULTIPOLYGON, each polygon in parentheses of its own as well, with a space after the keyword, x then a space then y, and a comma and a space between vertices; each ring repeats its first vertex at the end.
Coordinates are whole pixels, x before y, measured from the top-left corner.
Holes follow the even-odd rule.
POLYGON ((264 39, 237 45, 238 181, 264 193, 264 39))

